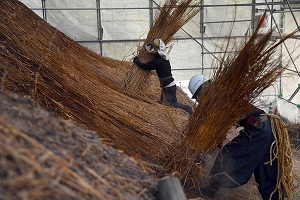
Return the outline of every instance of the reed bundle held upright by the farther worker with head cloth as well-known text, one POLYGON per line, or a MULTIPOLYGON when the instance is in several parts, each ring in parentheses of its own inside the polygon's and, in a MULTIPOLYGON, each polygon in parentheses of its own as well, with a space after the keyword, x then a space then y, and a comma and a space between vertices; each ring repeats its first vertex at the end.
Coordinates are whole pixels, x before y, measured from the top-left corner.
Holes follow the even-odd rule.
MULTIPOLYGON (((139 60, 143 63, 151 61, 153 55, 146 51, 144 45, 155 38, 160 38, 167 45, 175 33, 199 12, 200 5, 199 0, 167 0, 156 13, 154 25, 150 28, 143 46, 138 50, 139 60)), ((132 94, 139 93, 149 78, 149 73, 149 70, 140 69, 133 63, 122 83, 123 90, 132 94)))

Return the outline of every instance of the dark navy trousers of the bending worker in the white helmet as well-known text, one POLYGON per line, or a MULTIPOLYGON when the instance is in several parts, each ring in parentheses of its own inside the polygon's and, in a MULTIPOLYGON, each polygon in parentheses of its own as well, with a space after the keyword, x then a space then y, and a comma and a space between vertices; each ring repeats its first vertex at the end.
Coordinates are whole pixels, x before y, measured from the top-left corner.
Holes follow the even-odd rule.
MULTIPOLYGON (((211 175, 223 188, 238 187, 247 183, 254 173, 259 192, 264 200, 276 187, 277 160, 270 165, 270 147, 274 141, 270 121, 260 130, 241 130, 231 143, 226 144, 217 156, 211 175), (246 132, 244 132, 246 131, 246 132)), ((275 193, 272 200, 278 199, 275 193)))

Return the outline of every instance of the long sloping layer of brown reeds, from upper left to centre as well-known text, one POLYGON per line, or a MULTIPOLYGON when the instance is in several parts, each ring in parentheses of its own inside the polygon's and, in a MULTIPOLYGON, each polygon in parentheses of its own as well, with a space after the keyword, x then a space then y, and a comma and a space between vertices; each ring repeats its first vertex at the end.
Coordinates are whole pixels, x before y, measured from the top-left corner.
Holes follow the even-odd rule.
MULTIPOLYGON (((189 118, 149 98, 147 90, 138 96, 124 92, 120 77, 130 62, 77 44, 17 0, 0 3, 0 63, 3 90, 30 96, 56 116, 84 124, 115 148, 150 163, 179 137, 189 118)), ((149 90, 157 88, 159 83, 149 90)))

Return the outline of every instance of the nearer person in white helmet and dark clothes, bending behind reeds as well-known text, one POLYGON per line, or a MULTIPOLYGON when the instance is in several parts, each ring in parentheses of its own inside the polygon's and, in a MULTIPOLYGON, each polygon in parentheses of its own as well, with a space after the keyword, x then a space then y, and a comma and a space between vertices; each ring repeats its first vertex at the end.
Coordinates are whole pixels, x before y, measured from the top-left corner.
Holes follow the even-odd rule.
MULTIPOLYGON (((201 101, 199 96, 205 89, 209 89, 209 83, 209 78, 202 74, 193 76, 189 81, 192 98, 201 101)), ((238 122, 243 129, 221 148, 210 170, 208 185, 195 188, 197 195, 213 199, 220 187, 244 185, 254 174, 264 200, 279 198, 277 191, 272 194, 276 188, 278 165, 277 160, 270 162, 270 148, 274 142, 271 122, 263 110, 254 108, 253 113, 238 122)))

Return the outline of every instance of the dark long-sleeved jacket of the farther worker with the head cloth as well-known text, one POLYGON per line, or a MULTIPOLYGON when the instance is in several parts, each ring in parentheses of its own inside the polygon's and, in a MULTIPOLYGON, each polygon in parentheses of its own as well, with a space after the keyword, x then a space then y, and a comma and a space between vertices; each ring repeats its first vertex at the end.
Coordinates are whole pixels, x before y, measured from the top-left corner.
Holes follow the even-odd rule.
POLYGON ((142 63, 137 60, 135 63, 142 69, 156 70, 162 88, 174 81, 170 61, 160 57, 159 54, 155 54, 153 60, 150 62, 142 63))

